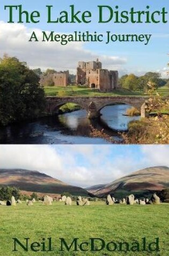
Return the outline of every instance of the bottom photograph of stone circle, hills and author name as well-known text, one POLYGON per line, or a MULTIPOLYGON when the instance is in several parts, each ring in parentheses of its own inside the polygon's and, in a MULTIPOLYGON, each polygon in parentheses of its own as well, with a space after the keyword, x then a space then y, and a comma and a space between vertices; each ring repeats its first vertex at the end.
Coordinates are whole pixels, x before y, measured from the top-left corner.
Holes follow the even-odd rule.
POLYGON ((169 146, 0 151, 0 256, 169 255, 169 146))

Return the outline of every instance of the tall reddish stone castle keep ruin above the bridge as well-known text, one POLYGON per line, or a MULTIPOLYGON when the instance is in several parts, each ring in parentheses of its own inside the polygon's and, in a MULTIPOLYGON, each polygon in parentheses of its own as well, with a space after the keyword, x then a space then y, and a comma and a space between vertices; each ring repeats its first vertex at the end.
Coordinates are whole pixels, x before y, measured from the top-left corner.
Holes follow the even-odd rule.
POLYGON ((118 87, 118 72, 102 69, 101 62, 79 61, 76 75, 77 85, 97 88, 101 92, 111 92, 118 87))

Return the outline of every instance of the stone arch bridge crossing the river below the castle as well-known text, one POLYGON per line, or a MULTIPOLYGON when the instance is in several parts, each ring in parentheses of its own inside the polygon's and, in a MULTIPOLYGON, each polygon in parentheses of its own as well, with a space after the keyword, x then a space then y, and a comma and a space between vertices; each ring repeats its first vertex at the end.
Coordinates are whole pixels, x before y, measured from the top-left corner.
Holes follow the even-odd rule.
POLYGON ((58 109, 65 103, 76 103, 88 113, 90 119, 100 116, 100 110, 108 105, 115 103, 129 104, 141 110, 141 116, 145 117, 145 105, 148 98, 140 96, 75 96, 75 97, 57 97, 47 96, 46 112, 49 115, 58 113, 58 109))

